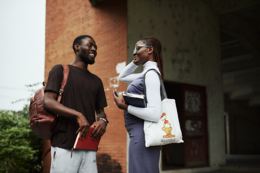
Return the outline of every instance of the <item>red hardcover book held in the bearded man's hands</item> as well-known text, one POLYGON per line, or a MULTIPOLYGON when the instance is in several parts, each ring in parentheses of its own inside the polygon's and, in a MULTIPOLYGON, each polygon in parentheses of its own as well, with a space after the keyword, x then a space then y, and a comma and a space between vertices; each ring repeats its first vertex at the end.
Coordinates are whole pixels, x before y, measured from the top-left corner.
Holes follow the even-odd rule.
MULTIPOLYGON (((84 138, 83 140, 82 140, 82 138, 79 139, 79 137, 80 137, 80 132, 79 132, 72 150, 81 149, 81 150, 96 151, 98 149, 98 144, 99 144, 101 138, 96 139, 96 140, 91 139, 90 134, 92 133, 94 128, 95 127, 89 127, 89 133, 87 135, 87 138, 84 138)), ((72 150, 71 150, 71 156, 72 156, 72 150)))

